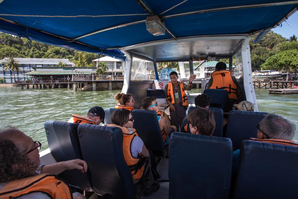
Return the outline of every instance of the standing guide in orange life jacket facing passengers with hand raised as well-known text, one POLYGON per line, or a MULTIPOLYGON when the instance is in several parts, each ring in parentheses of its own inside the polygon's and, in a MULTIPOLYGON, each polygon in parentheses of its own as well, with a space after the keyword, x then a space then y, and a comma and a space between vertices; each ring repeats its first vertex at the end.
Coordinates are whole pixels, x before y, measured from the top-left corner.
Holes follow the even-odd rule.
POLYGON ((178 74, 173 71, 170 73, 171 81, 165 86, 164 92, 166 94, 167 103, 170 105, 171 124, 179 129, 183 119, 186 117, 186 110, 188 101, 185 91, 193 88, 193 80, 196 75, 189 78, 188 85, 182 81, 178 82, 178 74))

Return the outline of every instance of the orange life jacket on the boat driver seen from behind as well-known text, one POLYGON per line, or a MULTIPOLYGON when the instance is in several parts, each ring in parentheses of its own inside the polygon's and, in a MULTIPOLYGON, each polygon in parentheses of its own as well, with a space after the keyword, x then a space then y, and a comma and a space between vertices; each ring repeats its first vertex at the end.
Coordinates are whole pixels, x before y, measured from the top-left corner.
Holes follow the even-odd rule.
POLYGON ((229 99, 237 98, 237 85, 233 82, 231 71, 217 70, 212 72, 212 85, 209 89, 225 89, 229 92, 229 99))

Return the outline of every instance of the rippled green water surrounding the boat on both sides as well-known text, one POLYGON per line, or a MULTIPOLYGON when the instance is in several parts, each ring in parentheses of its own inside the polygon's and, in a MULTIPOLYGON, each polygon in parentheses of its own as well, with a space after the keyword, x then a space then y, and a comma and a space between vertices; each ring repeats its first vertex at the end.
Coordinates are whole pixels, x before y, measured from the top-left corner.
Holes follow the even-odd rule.
MULTIPOLYGON (((9 126, 20 129, 40 141, 44 150, 48 147, 45 121, 68 121, 72 114, 85 116, 94 106, 113 107, 117 92, 120 90, 74 92, 72 89, 0 88, 0 129, 9 126)), ((191 91, 200 92, 201 89, 191 91)), ((269 95, 268 89, 256 89, 255 93, 259 111, 283 115, 296 125, 294 140, 298 141, 298 95, 269 95)))

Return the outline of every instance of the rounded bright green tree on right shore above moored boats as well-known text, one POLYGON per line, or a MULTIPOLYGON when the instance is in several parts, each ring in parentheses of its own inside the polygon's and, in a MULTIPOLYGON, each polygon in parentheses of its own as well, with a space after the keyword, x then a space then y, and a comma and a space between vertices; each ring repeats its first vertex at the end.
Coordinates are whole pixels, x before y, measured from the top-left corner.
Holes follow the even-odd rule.
POLYGON ((296 72, 298 69, 298 50, 285 50, 272 55, 261 66, 262 70, 289 70, 296 72))

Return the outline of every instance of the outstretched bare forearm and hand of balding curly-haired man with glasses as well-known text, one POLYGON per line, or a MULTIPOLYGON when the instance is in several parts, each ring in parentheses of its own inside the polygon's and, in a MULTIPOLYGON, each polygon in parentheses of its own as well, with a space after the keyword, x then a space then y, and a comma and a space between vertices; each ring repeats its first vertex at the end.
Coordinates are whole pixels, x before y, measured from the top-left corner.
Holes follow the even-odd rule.
POLYGON ((63 162, 57 162, 54 164, 45 165, 41 168, 41 173, 50 173, 58 175, 65 170, 79 169, 82 173, 87 171, 87 163, 83 160, 69 160, 63 162))

